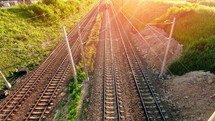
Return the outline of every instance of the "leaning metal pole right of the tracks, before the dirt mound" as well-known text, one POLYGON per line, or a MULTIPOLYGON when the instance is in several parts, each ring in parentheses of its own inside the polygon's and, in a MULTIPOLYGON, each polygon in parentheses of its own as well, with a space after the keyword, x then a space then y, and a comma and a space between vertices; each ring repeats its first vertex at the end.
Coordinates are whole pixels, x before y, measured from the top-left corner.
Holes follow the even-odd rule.
POLYGON ((166 59, 167 59, 167 55, 168 55, 168 52, 169 52, 170 43, 171 43, 171 40, 172 40, 172 33, 173 33, 173 30, 174 30, 174 27, 175 27, 175 20, 176 20, 176 18, 174 17, 173 22, 172 22, 172 27, 171 27, 171 30, 170 30, 170 34, 169 34, 169 38, 168 38, 168 42, 167 42, 167 46, 166 46, 166 51, 165 51, 162 67, 161 67, 161 73, 160 73, 159 77, 161 77, 163 75, 164 67, 166 65, 166 59))

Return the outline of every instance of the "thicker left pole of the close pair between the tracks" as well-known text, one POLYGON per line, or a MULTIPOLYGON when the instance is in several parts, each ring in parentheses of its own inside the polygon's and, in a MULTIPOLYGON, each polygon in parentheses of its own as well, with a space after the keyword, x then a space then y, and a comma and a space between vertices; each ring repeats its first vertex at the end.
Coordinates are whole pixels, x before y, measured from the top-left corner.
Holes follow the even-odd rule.
POLYGON ((64 38, 65 38, 65 41, 66 41, 66 46, 67 46, 67 51, 68 51, 68 54, 69 54, 69 59, 71 61, 73 77, 74 77, 75 82, 77 82, 77 73, 76 73, 76 69, 75 69, 75 63, 74 63, 72 52, 71 52, 71 49, 70 49, 70 45, 69 45, 69 41, 68 41, 65 26, 63 26, 63 33, 64 33, 64 38))

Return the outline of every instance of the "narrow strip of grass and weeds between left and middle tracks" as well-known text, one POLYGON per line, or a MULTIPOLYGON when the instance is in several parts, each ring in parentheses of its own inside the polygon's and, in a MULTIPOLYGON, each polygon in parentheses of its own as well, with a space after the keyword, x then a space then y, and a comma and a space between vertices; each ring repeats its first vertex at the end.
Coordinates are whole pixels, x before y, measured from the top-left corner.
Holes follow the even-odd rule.
MULTIPOLYGON (((84 52, 85 52, 85 59, 86 59, 86 67, 87 70, 90 73, 94 71, 94 62, 95 62, 95 55, 96 55, 96 47, 98 44, 98 33, 100 29, 100 24, 101 24, 101 18, 97 17, 97 20, 95 22, 95 25, 93 26, 91 33, 88 37, 88 42, 84 46, 84 52)), ((78 109, 78 104, 80 101, 80 92, 81 89, 79 87, 79 84, 81 84, 85 78, 85 72, 83 72, 83 60, 79 62, 79 64, 76 66, 77 70, 77 80, 78 83, 73 83, 71 82, 69 92, 71 93, 71 100, 72 103, 68 107, 68 120, 69 121, 75 121, 77 117, 80 117, 83 112, 82 110, 78 109)))

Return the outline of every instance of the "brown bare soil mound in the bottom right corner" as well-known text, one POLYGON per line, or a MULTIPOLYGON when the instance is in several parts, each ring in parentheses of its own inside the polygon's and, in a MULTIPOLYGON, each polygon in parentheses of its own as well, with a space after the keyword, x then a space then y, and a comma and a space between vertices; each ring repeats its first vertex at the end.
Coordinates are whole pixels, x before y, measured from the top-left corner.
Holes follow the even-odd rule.
POLYGON ((206 121, 215 111, 215 75, 195 71, 170 80, 161 85, 163 100, 177 110, 181 120, 206 121))

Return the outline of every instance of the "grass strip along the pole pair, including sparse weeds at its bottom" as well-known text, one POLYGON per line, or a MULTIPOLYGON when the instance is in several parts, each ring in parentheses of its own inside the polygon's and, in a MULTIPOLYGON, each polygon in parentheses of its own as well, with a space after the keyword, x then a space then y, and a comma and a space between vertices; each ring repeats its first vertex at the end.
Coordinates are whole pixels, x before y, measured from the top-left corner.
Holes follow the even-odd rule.
MULTIPOLYGON (((95 54, 96 54, 96 47, 98 43, 98 35, 99 29, 101 24, 101 17, 97 17, 96 22, 88 36, 88 42, 84 45, 84 52, 85 52, 85 59, 86 59, 86 66, 89 72, 92 73, 94 71, 94 62, 95 62, 95 54)), ((79 110, 78 105, 80 103, 80 96, 81 96, 81 88, 80 85, 86 78, 85 72, 83 72, 83 60, 76 65, 77 70, 77 80, 78 83, 74 83, 74 78, 71 79, 70 86, 68 88, 68 99, 65 102, 61 103, 60 110, 63 108, 67 108, 67 110, 63 110, 57 113, 57 121, 68 120, 68 121, 75 121, 78 120, 86 110, 79 110), (65 107, 64 107, 65 106, 65 107), (66 114, 66 116, 65 116, 66 114)), ((86 101, 86 100, 84 100, 86 101)))

